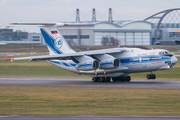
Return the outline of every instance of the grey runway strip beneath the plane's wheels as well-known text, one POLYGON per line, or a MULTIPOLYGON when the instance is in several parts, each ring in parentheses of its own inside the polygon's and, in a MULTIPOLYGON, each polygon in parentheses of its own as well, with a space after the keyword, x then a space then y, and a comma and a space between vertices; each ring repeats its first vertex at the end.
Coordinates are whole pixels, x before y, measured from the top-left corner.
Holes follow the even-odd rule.
POLYGON ((131 80, 131 82, 94 83, 90 79, 0 78, 0 85, 180 89, 180 81, 162 80, 131 80))

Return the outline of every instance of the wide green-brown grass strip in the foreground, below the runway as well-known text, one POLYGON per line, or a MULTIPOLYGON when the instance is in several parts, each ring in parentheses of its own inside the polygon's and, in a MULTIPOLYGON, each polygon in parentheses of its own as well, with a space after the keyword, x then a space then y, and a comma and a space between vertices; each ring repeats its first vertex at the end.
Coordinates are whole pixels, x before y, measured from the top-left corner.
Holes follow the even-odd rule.
POLYGON ((180 90, 0 86, 0 115, 180 116, 180 90))

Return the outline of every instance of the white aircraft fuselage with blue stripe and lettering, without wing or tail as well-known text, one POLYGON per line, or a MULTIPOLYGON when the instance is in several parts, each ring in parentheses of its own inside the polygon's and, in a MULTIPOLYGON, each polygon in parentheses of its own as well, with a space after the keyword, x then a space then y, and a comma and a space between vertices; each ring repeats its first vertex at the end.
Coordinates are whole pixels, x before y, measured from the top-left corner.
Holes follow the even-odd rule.
MULTIPOLYGON (((117 48, 120 49, 120 48, 117 48)), ((114 69, 97 69, 90 71, 83 71, 76 69, 76 63, 72 60, 50 60, 49 62, 68 71, 89 75, 92 77, 119 77, 137 72, 151 72, 156 70, 169 70, 177 62, 175 56, 159 55, 158 50, 142 50, 138 48, 126 48, 125 52, 115 53, 112 56, 120 60, 120 65, 114 69), (168 61, 175 60, 172 66, 169 66, 168 61)))

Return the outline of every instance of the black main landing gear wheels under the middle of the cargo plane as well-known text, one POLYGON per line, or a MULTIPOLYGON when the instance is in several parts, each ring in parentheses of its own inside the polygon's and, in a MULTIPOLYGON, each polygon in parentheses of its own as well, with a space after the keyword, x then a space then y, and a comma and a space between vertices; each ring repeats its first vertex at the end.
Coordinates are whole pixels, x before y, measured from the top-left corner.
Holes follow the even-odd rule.
MULTIPOLYGON (((123 77, 113 77, 113 82, 129 82, 131 81, 130 76, 123 76, 123 77)), ((110 77, 93 77, 92 82, 111 82, 110 77)))

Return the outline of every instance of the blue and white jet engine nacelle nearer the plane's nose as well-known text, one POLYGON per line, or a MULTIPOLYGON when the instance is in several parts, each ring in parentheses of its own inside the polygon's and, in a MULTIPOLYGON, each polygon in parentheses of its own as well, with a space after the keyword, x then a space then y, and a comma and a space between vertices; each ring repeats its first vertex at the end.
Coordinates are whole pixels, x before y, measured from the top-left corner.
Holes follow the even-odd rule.
POLYGON ((114 69, 119 67, 119 59, 107 59, 100 62, 100 69, 114 69))

